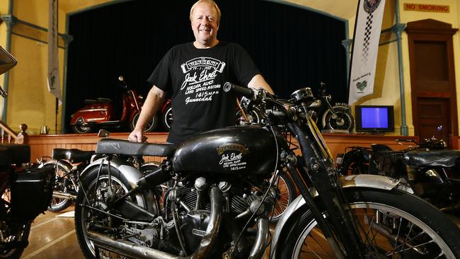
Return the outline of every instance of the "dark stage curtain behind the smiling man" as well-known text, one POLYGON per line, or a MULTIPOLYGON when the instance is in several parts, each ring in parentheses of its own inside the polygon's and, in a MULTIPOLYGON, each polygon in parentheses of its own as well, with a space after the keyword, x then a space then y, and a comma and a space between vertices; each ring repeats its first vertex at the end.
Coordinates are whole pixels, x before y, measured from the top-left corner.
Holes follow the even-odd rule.
MULTIPOLYGON (((146 79, 166 51, 194 40, 188 19, 194 2, 121 1, 70 16, 65 125, 88 98, 111 98, 121 112, 120 74, 146 95, 146 79)), ((347 102, 343 21, 270 1, 217 4, 219 40, 246 48, 278 96, 305 86, 315 91, 323 81, 334 102, 347 102)))

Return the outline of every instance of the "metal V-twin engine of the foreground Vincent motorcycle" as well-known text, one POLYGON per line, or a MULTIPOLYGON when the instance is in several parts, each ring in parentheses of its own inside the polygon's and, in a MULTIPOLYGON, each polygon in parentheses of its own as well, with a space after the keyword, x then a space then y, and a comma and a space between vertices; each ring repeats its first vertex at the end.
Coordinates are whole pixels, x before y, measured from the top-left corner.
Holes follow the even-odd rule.
MULTIPOLYGON (((268 182, 264 182, 268 186, 268 182)), ((272 190, 269 195, 262 201, 264 192, 263 187, 255 187, 250 184, 232 186, 227 182, 218 183, 220 190, 224 193, 226 205, 224 210, 227 212, 227 216, 224 225, 230 227, 226 229, 227 233, 225 236, 228 240, 224 243, 229 244, 231 242, 231 236, 238 236, 242 226, 246 224, 246 221, 255 214, 263 215, 271 212, 272 206, 275 203, 276 192, 272 190), (230 222, 233 221, 233 222, 230 222), (241 227, 234 227, 241 226, 241 227)), ((205 178, 197 178, 195 184, 186 185, 183 184, 177 190, 176 202, 178 201, 178 207, 180 210, 180 230, 184 235, 184 241, 190 251, 195 251, 200 246, 200 242, 203 236, 206 234, 207 225, 209 224, 211 214, 211 202, 209 199, 210 188, 206 183, 205 178)), ((219 236, 222 239, 221 231, 219 236)), ((221 240, 222 241, 222 240, 221 240)))

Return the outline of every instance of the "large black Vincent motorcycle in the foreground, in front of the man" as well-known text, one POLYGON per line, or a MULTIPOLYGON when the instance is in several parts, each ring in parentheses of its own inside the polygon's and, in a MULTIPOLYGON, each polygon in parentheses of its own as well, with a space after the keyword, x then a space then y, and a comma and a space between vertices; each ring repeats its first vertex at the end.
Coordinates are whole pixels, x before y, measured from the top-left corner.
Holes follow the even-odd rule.
POLYGON ((460 258, 459 229, 408 186, 338 175, 308 113, 311 89, 289 100, 229 83, 224 90, 264 111, 261 125, 216 129, 178 145, 98 142, 104 156, 81 173, 75 208, 86 258, 262 258, 269 241, 271 258, 460 258), (142 173, 125 159, 133 155, 163 161, 142 173), (270 234, 283 168, 301 195, 270 234))

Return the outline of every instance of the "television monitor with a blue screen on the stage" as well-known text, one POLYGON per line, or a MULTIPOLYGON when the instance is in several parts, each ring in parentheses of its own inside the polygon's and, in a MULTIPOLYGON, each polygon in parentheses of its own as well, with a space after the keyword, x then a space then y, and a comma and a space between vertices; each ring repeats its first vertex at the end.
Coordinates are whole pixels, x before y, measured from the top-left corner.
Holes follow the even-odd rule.
POLYGON ((357 132, 393 132, 394 108, 391 105, 356 105, 357 132))

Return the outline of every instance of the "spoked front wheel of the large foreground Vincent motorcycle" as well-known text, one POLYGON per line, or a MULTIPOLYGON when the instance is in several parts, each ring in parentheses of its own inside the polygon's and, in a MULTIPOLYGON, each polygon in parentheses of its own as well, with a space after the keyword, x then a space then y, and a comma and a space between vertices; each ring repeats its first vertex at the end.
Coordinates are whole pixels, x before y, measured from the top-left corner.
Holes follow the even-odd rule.
MULTIPOLYGON (((458 227, 419 197, 398 190, 344 192, 365 258, 460 258, 458 227)), ((335 258, 306 205, 287 221, 279 240, 276 258, 335 258)))

